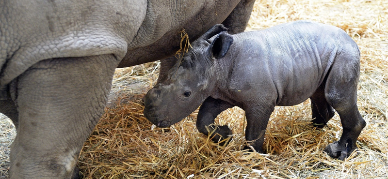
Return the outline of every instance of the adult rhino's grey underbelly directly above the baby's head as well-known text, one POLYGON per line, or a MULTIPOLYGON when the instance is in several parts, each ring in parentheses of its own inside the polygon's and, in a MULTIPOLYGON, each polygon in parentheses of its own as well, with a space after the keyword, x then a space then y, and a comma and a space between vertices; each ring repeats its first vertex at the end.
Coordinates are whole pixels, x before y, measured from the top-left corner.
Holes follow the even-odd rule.
POLYGON ((239 2, 205 0, 181 5, 183 1, 149 1, 146 18, 118 68, 174 55, 179 49, 181 30, 188 34, 190 42, 194 42, 213 25, 222 23, 239 2))

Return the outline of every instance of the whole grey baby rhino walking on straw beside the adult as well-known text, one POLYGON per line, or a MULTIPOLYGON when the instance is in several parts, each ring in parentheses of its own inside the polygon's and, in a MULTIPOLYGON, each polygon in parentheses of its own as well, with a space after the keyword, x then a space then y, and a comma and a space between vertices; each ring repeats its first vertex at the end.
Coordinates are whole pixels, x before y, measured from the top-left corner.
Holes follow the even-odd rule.
POLYGON ((182 120, 200 104, 198 131, 218 142, 232 134, 214 119, 239 106, 245 110, 248 145, 262 152, 265 129, 275 105, 300 104, 310 98, 312 122, 322 128, 338 112, 339 141, 325 151, 344 160, 356 147, 366 123, 357 109, 360 52, 343 30, 310 21, 228 34, 215 25, 149 90, 144 115, 159 127, 182 120), (210 133, 215 130, 213 133, 210 133))

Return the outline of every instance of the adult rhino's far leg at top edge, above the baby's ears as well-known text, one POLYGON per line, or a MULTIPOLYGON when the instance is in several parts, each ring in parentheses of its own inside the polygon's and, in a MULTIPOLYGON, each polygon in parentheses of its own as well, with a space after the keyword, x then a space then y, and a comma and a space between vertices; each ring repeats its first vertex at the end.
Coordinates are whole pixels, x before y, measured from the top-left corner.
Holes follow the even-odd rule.
POLYGON ((255 0, 241 0, 222 23, 230 34, 243 32, 251 16, 255 0))

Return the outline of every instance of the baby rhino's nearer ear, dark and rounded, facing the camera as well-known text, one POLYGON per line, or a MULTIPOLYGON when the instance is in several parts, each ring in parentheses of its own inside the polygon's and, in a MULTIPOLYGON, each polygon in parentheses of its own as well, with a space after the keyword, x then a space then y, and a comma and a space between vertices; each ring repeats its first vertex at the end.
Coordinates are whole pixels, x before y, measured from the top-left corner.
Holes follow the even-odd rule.
POLYGON ((221 59, 226 55, 226 52, 229 50, 229 46, 233 42, 233 37, 227 32, 221 32, 217 37, 211 42, 209 48, 211 56, 215 59, 221 59))

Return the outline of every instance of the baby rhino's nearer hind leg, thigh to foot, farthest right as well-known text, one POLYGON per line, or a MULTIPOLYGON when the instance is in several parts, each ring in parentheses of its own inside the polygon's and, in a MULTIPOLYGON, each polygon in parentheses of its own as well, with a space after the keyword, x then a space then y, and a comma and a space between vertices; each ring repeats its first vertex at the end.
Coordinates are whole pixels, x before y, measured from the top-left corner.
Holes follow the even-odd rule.
POLYGON ((340 160, 357 149, 356 139, 366 125, 357 108, 358 77, 359 60, 343 53, 336 57, 325 84, 326 100, 338 112, 343 128, 339 141, 329 144, 325 151, 340 160))

